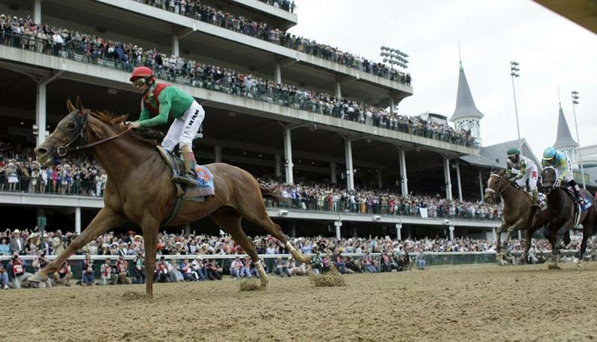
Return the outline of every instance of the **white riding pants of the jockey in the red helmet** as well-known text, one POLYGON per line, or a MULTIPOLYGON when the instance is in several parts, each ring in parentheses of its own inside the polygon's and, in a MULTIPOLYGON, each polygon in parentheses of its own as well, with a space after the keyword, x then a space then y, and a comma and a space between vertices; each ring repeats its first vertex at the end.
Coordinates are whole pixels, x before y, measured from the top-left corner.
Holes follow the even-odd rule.
POLYGON ((193 101, 180 119, 174 119, 164 141, 162 141, 162 147, 172 152, 176 145, 179 145, 179 148, 182 148, 183 145, 192 145, 204 118, 205 110, 199 103, 193 101))

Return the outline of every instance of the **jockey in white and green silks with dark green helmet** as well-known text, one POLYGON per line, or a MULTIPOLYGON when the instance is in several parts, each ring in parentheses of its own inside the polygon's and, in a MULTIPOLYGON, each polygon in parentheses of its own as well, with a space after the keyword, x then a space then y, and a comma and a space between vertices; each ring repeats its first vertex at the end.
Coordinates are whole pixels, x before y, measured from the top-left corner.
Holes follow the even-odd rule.
POLYGON ((520 149, 515 147, 508 149, 507 157, 506 178, 509 181, 516 182, 518 187, 527 189, 527 191, 533 195, 533 205, 538 205, 537 200, 539 197, 539 192, 537 190, 537 166, 533 160, 521 155, 520 149))

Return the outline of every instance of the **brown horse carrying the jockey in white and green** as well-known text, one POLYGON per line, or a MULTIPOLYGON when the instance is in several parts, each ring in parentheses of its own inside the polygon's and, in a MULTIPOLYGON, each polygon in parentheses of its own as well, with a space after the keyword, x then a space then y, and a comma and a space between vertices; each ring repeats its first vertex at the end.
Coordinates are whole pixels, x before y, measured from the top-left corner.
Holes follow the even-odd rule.
MULTIPOLYGON (((506 230, 506 241, 512 237, 515 231, 525 230, 525 251, 522 257, 526 259, 528 250, 531 248, 531 239, 533 233, 546 223, 547 215, 540 212, 536 215, 533 209, 533 200, 524 190, 515 188, 504 176, 504 172, 492 174, 487 179, 487 189, 485 189, 484 200, 495 202, 497 197, 501 196, 504 200, 504 222, 496 229, 496 258, 500 262, 501 254, 501 232, 506 230)), ((505 242, 504 242, 505 243, 505 242)))

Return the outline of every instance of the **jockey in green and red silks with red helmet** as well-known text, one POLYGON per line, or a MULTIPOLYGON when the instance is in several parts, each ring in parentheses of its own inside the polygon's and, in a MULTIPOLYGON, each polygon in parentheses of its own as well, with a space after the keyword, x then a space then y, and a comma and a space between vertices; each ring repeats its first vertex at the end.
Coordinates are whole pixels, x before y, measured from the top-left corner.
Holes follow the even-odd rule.
POLYGON ((159 126, 167 123, 168 117, 172 116, 174 122, 162 141, 162 147, 172 152, 179 145, 185 174, 173 180, 195 187, 196 162, 192 142, 205 117, 203 107, 174 85, 156 83, 152 69, 146 66, 135 68, 130 81, 134 90, 143 95, 143 99, 139 120, 127 124, 133 129, 159 126))

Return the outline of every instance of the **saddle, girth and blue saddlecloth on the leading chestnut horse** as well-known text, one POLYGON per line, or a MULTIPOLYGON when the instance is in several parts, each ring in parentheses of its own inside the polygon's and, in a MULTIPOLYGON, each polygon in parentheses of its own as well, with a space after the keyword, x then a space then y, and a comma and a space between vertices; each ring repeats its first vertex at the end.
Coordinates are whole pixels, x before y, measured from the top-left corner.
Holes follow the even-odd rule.
MULTIPOLYGON (((184 175, 184 164, 179 157, 162 148, 160 145, 157 145, 156 149, 158 149, 159 155, 164 158, 166 164, 170 167, 170 172, 172 172, 173 177, 184 175)), ((176 218, 184 206, 184 201, 202 202, 205 201, 205 197, 214 196, 214 177, 211 171, 205 166, 198 165, 196 166, 196 173, 197 182, 195 187, 188 187, 186 184, 173 182, 176 187, 176 197, 174 197, 174 203, 172 204, 170 213, 168 213, 168 216, 166 216, 164 222, 161 224, 162 227, 167 226, 174 220, 174 218, 176 218)))

